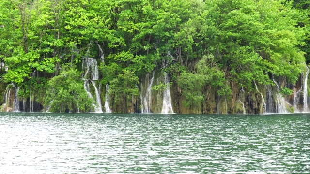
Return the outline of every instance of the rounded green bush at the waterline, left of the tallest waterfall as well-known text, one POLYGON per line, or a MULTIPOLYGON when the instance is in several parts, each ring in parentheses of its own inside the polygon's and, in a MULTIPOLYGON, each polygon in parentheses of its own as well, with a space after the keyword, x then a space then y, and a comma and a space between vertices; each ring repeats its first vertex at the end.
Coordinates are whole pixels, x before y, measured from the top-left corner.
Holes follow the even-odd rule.
POLYGON ((51 112, 93 112, 93 99, 83 87, 81 72, 71 66, 62 66, 58 76, 48 81, 45 107, 51 112))

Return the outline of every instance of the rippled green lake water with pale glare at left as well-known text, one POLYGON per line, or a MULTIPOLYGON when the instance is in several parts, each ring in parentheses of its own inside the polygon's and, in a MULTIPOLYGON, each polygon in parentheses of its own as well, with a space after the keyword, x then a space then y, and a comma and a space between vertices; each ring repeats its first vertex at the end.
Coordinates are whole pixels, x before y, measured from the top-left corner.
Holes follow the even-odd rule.
POLYGON ((310 114, 0 113, 0 174, 310 173, 310 114))

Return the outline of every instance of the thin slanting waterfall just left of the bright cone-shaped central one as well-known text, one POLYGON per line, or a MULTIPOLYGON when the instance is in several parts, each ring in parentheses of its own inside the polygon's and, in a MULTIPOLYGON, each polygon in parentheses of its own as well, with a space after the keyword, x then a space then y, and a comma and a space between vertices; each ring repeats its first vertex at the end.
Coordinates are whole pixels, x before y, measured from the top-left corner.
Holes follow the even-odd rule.
POLYGON ((153 72, 153 75, 152 75, 150 82, 149 82, 149 73, 145 77, 145 83, 148 86, 146 88, 144 97, 142 97, 142 95, 143 95, 143 87, 142 86, 143 85, 141 85, 140 98, 141 98, 141 103, 142 103, 142 113, 151 113, 151 89, 152 89, 152 85, 153 85, 153 81, 154 81, 154 74, 155 74, 155 72, 153 72))

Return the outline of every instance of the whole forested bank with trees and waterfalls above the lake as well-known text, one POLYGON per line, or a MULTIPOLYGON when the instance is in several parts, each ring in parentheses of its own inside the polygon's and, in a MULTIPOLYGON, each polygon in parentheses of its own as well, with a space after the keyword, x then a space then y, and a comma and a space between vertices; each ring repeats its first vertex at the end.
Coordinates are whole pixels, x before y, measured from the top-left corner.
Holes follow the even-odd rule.
POLYGON ((3 112, 308 112, 310 0, 0 0, 3 112))

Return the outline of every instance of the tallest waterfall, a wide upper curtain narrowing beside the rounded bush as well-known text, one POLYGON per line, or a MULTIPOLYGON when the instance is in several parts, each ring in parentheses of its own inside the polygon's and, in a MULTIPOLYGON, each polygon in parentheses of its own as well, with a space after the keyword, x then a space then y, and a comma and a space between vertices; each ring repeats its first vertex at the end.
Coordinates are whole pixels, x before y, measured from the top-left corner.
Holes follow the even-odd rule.
POLYGON ((89 82, 91 81, 96 95, 96 104, 93 103, 95 107, 95 113, 102 113, 100 91, 96 87, 95 81, 99 79, 99 71, 97 61, 94 58, 84 58, 83 59, 83 68, 85 69, 84 74, 84 89, 87 92, 88 96, 93 99, 91 90, 89 87, 89 82))

